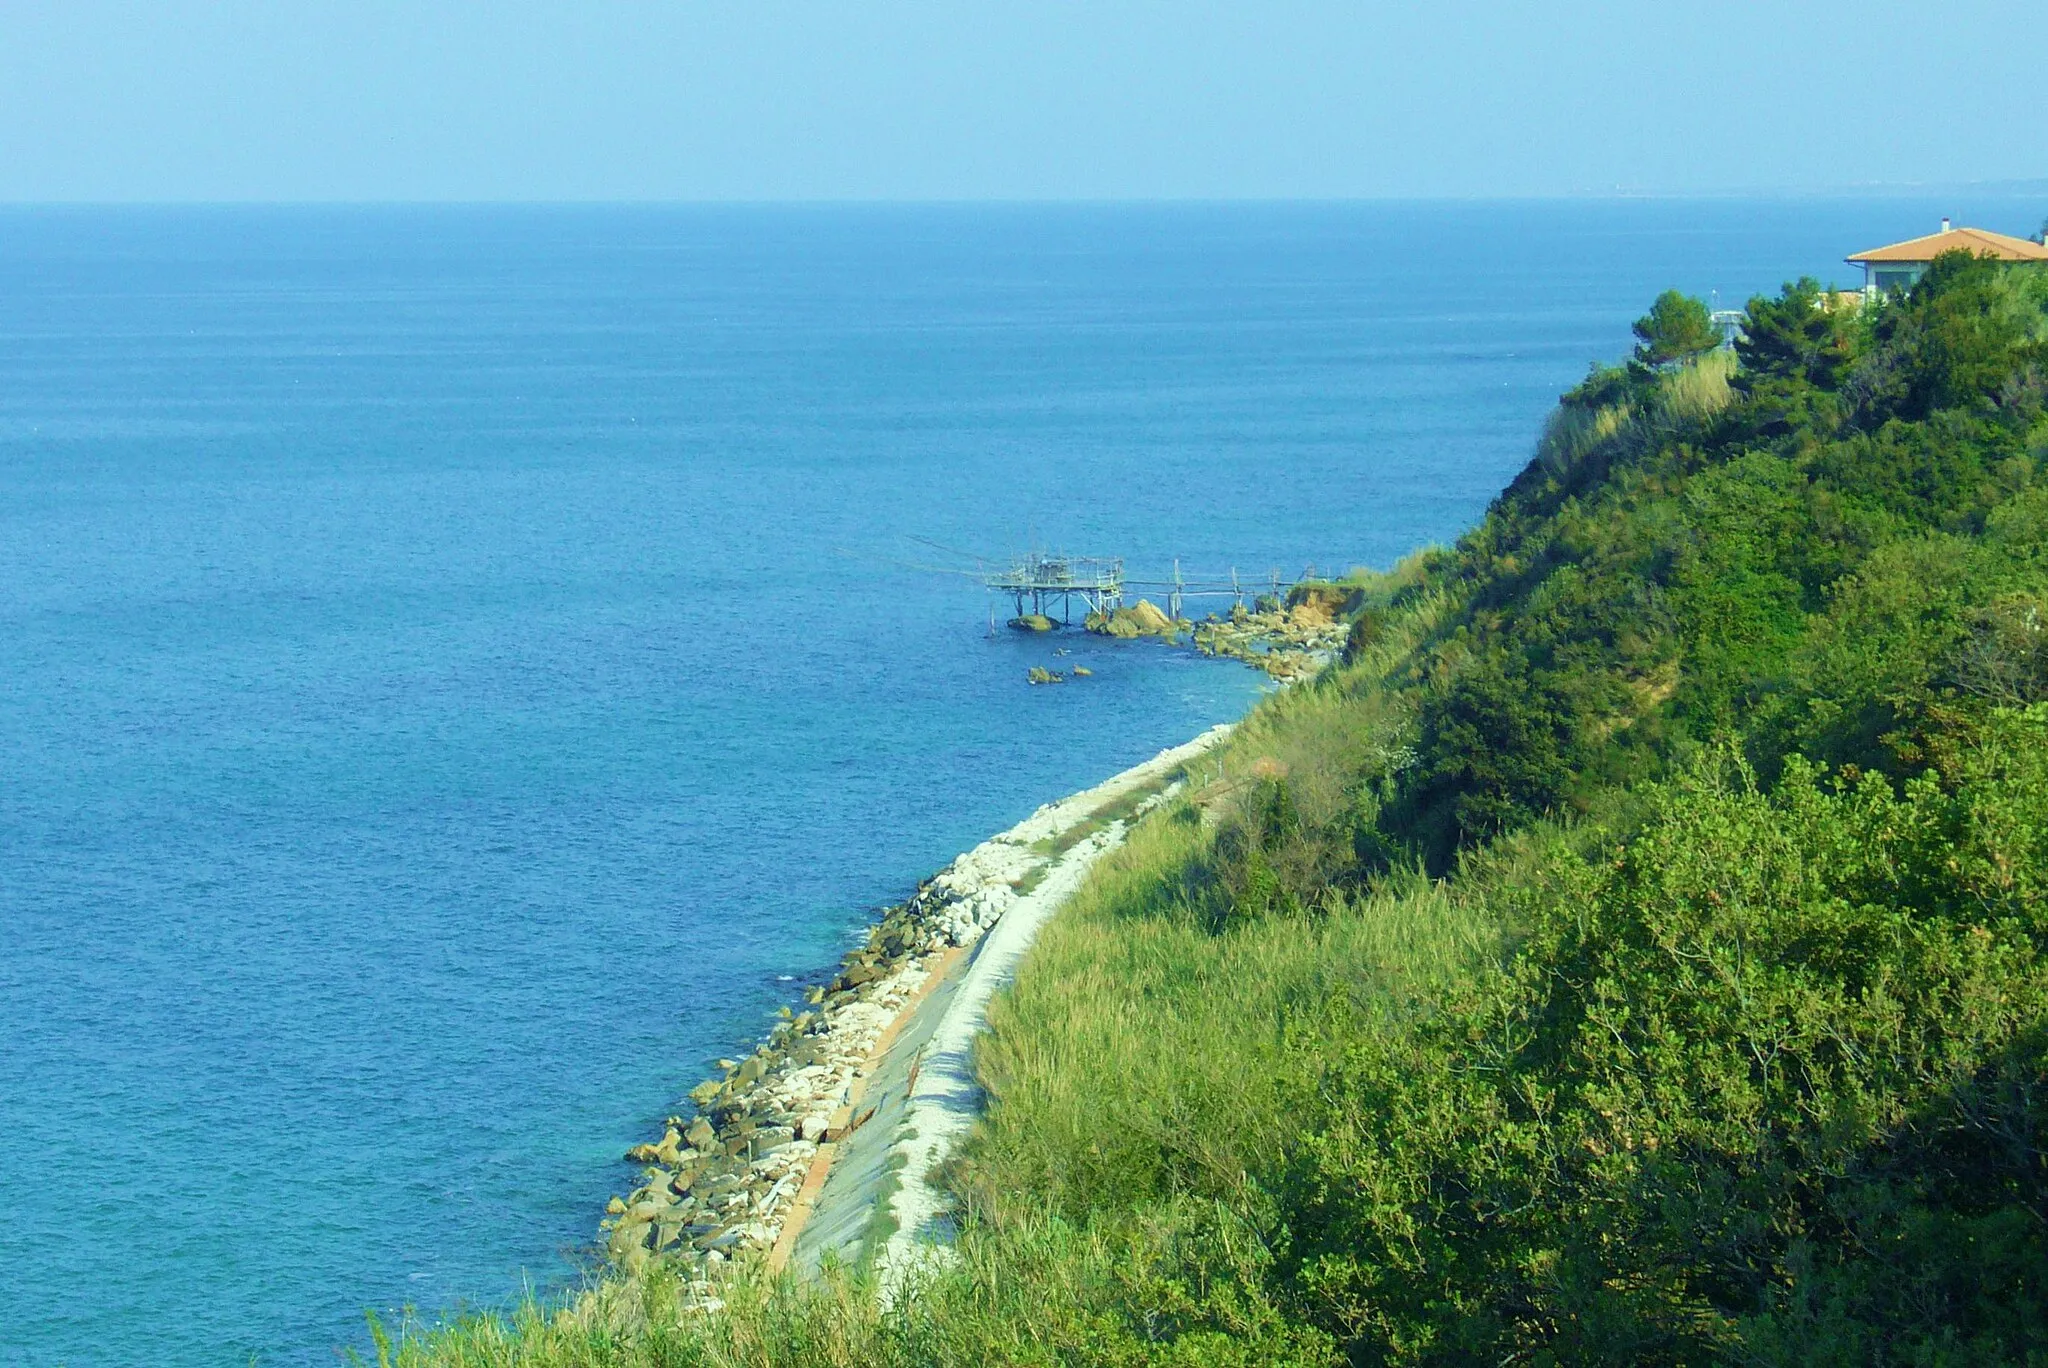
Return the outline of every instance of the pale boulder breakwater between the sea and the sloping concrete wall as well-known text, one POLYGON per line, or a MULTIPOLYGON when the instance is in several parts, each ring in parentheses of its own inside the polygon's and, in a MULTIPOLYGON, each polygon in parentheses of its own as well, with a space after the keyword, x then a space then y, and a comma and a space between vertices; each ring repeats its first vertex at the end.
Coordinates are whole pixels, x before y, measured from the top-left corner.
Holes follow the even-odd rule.
POLYGON ((721 1077, 690 1094, 692 1118, 670 1116, 659 1141, 627 1151, 641 1182, 606 1208, 614 1266, 635 1274, 653 1257, 686 1259, 709 1296, 723 1264, 776 1245, 819 1147, 866 1120, 860 1083, 885 1034, 1047 862, 1020 833, 983 842, 891 907, 803 1012, 784 1008, 752 1055, 719 1061, 721 1077))

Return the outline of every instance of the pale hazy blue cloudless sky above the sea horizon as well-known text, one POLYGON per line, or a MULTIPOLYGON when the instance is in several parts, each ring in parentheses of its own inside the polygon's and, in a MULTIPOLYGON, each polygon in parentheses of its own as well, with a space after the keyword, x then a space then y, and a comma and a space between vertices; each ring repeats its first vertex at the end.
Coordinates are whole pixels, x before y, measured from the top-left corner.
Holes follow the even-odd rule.
POLYGON ((0 0, 0 199, 2048 176, 2040 0, 0 0))

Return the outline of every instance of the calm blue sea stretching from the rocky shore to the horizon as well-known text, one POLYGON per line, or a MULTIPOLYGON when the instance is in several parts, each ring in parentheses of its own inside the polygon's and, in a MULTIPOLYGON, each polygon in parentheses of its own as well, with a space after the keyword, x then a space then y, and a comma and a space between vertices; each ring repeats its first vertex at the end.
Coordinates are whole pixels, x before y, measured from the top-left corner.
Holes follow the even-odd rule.
POLYGON ((1260 694, 967 553, 1386 565, 1659 289, 1939 213, 2040 217, 0 211, 0 1364, 571 1282, 879 905, 1260 694))

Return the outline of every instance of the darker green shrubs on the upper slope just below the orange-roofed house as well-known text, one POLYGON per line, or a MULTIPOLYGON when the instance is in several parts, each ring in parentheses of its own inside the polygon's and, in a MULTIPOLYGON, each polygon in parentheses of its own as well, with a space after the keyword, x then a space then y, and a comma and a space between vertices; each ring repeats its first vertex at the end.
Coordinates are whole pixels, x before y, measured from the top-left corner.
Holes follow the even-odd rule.
POLYGON ((1591 416, 1552 424, 1442 571, 1470 614, 1423 666, 1442 686, 1384 836, 1448 870, 1731 735, 1765 774, 1796 747, 1911 772, 1954 684, 1931 653, 2038 575, 2038 514, 2011 510, 2048 444, 2044 305, 2042 272, 1958 254, 1864 311, 1810 281, 1751 301, 1718 403, 1595 371, 1561 408, 1591 416), (1995 516, 2025 526, 1987 537, 1995 516), (1812 698, 1847 618, 1894 678, 1812 698))

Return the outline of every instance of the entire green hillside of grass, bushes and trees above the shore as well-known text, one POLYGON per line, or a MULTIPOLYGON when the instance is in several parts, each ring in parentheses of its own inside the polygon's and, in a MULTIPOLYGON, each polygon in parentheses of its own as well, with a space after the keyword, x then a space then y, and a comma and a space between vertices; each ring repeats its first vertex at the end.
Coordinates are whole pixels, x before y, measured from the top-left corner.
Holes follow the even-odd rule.
POLYGON ((2048 1362, 2048 279, 1667 297, 1042 936, 956 1257, 401 1364, 2048 1362))

